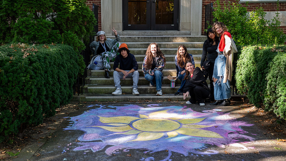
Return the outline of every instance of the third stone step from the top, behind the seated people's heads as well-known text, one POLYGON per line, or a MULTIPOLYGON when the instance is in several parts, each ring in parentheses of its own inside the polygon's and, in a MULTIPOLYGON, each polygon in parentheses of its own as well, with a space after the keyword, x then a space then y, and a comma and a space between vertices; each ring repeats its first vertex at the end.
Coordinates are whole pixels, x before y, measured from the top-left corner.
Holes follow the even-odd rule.
MULTIPOLYGON (((122 42, 124 43, 124 42, 122 42)), ((126 42, 128 48, 148 48, 152 42, 126 42)), ((186 48, 203 48, 204 42, 158 42, 159 48, 178 48, 180 45, 186 48)))

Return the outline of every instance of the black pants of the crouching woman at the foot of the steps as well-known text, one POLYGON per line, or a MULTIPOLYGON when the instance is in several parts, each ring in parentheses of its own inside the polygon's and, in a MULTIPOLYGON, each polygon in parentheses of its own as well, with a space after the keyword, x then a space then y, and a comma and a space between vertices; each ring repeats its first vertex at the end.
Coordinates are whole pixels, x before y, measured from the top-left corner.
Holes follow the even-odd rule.
POLYGON ((190 89, 191 98, 189 99, 189 101, 192 104, 195 104, 197 102, 198 103, 205 103, 204 99, 209 98, 209 95, 210 95, 210 91, 208 91, 207 89, 197 85, 195 88, 190 89))

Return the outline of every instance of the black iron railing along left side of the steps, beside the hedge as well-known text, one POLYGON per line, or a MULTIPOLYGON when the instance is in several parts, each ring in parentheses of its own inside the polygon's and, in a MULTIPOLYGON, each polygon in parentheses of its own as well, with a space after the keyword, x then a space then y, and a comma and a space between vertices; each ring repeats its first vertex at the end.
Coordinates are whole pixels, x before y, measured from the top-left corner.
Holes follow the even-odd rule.
MULTIPOLYGON (((93 4, 92 11, 94 13, 95 19, 98 21, 98 6, 93 4)), ((97 32, 98 32, 98 23, 97 23, 97 25, 94 25, 94 32, 93 32, 94 34, 91 34, 89 36, 88 41, 83 42, 85 44, 86 48, 85 48, 85 50, 83 50, 81 52, 81 55, 83 56, 83 61, 86 65, 86 67, 90 63, 90 55, 93 55, 93 53, 91 52, 91 50, 89 48, 89 44, 94 41, 94 37, 95 37, 95 34, 97 32)), ((82 75, 78 76, 78 78, 76 79, 76 83, 73 86, 74 95, 76 95, 76 93, 77 93, 77 95, 79 95, 80 93, 83 94, 83 86, 86 85, 86 82, 85 82, 86 77, 87 77, 87 70, 85 68, 84 73, 82 75)))

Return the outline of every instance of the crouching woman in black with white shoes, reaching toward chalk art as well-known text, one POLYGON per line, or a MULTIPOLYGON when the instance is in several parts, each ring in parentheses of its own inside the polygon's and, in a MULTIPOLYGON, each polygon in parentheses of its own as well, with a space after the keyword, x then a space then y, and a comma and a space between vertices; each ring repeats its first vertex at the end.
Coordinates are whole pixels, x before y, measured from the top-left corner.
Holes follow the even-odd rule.
POLYGON ((186 61, 185 63, 186 75, 186 85, 184 87, 184 99, 189 95, 191 98, 186 101, 186 104, 199 103, 200 106, 205 106, 205 100, 210 95, 210 89, 207 87, 207 82, 205 81, 205 76, 199 67, 194 68, 191 61, 186 61))

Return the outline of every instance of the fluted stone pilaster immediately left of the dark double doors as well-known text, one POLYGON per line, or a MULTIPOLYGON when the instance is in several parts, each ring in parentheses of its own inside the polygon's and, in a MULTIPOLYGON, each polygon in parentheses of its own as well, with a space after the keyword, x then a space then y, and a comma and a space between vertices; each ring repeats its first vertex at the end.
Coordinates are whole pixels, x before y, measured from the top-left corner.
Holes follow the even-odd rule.
POLYGON ((112 29, 114 27, 117 31, 122 31, 122 19, 122 0, 112 0, 112 29))

